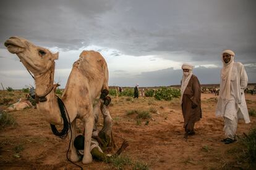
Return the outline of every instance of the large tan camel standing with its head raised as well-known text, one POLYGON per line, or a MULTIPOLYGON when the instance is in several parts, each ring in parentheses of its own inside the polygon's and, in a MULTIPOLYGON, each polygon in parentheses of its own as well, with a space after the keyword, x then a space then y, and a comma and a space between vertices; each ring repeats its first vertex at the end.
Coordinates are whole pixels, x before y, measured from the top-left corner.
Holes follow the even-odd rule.
MULTIPOLYGON (((63 124, 58 99, 54 94, 56 86, 54 81, 54 60, 59 53, 51 53, 48 49, 35 46, 26 39, 12 36, 4 42, 7 50, 16 54, 20 62, 35 78, 36 95, 41 99, 37 108, 45 115, 46 121, 51 124, 63 124)), ((79 161, 79 156, 74 147, 76 119, 83 121, 85 128, 85 150, 83 164, 92 162, 90 143, 93 130, 93 102, 101 93, 103 97, 108 95, 108 66, 100 53, 95 51, 83 51, 79 60, 74 62, 66 88, 62 95, 62 101, 66 106, 70 118, 69 137, 72 135, 70 145, 70 160, 79 161)))

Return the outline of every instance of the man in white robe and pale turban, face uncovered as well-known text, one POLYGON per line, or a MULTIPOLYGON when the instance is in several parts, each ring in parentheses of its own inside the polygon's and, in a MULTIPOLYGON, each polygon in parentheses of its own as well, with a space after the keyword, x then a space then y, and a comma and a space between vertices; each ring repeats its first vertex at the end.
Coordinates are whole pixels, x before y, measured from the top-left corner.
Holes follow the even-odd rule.
POLYGON ((236 141, 237 121, 244 118, 245 123, 250 123, 250 118, 245 102, 244 89, 247 87, 248 77, 244 65, 234 62, 234 52, 222 52, 223 68, 221 70, 220 97, 216 107, 216 116, 224 117, 226 138, 221 140, 225 144, 236 141))

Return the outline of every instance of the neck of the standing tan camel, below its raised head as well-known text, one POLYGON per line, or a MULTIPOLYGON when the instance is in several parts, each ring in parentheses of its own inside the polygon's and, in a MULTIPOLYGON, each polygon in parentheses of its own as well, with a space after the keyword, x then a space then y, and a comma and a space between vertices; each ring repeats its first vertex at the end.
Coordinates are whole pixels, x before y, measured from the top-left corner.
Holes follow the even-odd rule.
POLYGON ((58 100, 53 89, 54 65, 46 73, 35 75, 36 95, 46 95, 45 102, 38 103, 38 110, 43 113, 46 121, 51 124, 62 124, 58 100), (49 94, 48 94, 49 93, 49 94))

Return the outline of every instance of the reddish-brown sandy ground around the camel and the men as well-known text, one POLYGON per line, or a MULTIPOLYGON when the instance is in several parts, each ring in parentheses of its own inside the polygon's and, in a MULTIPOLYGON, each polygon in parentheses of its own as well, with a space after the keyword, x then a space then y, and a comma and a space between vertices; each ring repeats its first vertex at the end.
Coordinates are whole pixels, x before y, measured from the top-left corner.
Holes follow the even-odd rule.
MULTIPOLYGON (((129 140, 124 154, 133 160, 147 163, 150 169, 219 169, 236 160, 236 156, 228 151, 237 143, 225 145, 220 142, 224 138, 223 119, 215 118, 215 95, 202 94, 203 118, 195 124, 196 135, 188 140, 184 139, 184 120, 178 99, 168 102, 127 98, 113 98, 109 110, 114 120, 113 134, 117 146, 124 139, 129 140), (159 114, 152 113, 153 119, 148 125, 145 125, 145 120, 138 124, 134 116, 126 115, 126 110, 149 110, 151 107, 159 114)), ((246 94, 246 99, 247 107, 256 109, 256 96, 246 94)), ((0 109, 5 107, 1 105, 0 109)), ((69 139, 54 136, 43 119, 43 113, 29 108, 10 114, 17 125, 0 130, 0 169, 79 169, 66 159, 69 139), (19 158, 14 156, 15 147, 22 148, 19 158)), ((250 124, 239 121, 238 136, 256 127, 256 117, 250 117, 250 120, 250 124)), ((78 124, 77 131, 82 131, 80 122, 78 124)), ((113 169, 111 164, 98 161, 78 164, 84 169, 113 169)))

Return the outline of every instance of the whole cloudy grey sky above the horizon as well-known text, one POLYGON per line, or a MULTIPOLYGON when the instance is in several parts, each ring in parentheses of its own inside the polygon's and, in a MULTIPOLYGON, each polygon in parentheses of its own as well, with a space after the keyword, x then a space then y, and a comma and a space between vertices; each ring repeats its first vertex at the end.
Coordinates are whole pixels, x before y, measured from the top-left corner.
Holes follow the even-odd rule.
POLYGON ((83 50, 105 57, 109 86, 168 86, 181 65, 195 65, 201 84, 219 83, 221 51, 232 49, 256 82, 255 0, 0 1, 0 83, 33 84, 4 41, 21 36, 59 51, 55 82, 64 87, 83 50))

